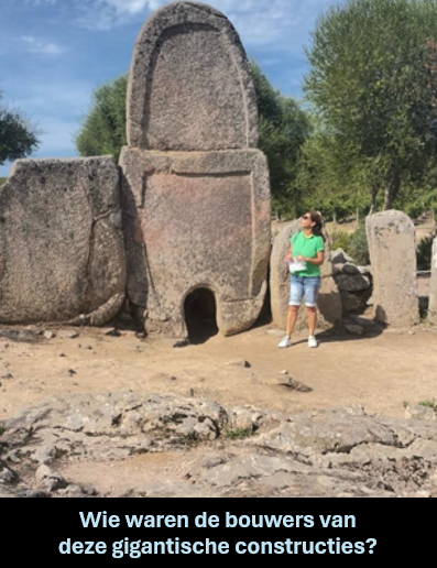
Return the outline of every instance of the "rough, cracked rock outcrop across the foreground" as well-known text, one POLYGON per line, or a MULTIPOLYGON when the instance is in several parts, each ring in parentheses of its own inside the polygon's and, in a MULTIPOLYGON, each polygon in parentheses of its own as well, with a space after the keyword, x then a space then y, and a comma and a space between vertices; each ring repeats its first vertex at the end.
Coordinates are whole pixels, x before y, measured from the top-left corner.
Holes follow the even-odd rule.
POLYGON ((151 477, 142 495, 437 496, 436 414, 409 416, 284 415, 131 392, 51 398, 1 425, 0 496, 99 495, 59 471, 174 452, 181 474, 151 477))

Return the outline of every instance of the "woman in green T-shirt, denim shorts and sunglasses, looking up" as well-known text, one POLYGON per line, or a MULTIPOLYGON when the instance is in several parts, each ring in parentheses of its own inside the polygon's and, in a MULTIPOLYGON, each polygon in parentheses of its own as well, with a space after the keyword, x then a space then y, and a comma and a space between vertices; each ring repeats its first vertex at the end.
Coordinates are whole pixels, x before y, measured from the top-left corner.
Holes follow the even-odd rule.
POLYGON ((317 296, 320 287, 320 266, 325 260, 325 237, 321 233, 321 216, 310 211, 301 218, 302 230, 293 234, 291 250, 285 260, 291 263, 291 290, 287 315, 286 336, 277 347, 292 346, 292 334, 296 324, 302 298, 305 296, 305 306, 308 314, 308 347, 317 347, 315 338, 317 318, 317 296), (296 264, 296 270, 294 270, 296 264))

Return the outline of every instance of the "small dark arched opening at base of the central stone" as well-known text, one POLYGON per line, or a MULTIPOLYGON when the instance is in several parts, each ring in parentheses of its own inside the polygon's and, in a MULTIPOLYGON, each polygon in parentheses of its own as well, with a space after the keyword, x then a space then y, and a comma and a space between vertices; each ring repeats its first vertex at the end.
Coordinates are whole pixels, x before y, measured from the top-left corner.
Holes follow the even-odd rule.
POLYGON ((218 334, 217 306, 212 292, 195 290, 187 296, 184 309, 190 343, 205 343, 218 334))

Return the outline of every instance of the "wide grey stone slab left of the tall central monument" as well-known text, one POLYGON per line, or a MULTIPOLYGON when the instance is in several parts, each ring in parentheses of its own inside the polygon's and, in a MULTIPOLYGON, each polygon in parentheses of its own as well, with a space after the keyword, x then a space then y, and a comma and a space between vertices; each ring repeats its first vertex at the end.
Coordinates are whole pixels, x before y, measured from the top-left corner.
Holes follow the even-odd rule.
POLYGON ((15 162, 0 189, 0 323, 101 325, 124 288, 113 160, 15 162))

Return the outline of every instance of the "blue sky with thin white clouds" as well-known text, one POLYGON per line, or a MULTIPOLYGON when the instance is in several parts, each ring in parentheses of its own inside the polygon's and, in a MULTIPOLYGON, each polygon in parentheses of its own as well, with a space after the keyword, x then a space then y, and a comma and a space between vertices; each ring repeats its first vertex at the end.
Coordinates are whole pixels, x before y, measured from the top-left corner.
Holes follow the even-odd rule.
MULTIPOLYGON (((302 97, 316 18, 340 0, 211 0, 273 85, 302 97)), ((166 0, 1 0, 0 90, 43 131, 35 156, 73 157, 96 87, 129 69, 143 21, 166 0)), ((8 175, 10 164, 0 166, 8 175)))

